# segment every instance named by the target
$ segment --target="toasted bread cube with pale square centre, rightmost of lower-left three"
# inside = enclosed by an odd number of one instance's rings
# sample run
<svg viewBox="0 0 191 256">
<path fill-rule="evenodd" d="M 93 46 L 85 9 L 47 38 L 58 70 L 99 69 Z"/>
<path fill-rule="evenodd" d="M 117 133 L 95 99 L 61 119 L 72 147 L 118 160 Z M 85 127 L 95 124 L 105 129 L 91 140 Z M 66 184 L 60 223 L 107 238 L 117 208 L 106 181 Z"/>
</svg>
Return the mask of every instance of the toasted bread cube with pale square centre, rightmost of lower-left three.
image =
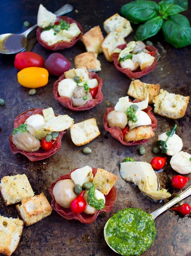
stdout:
<svg viewBox="0 0 191 256">
<path fill-rule="evenodd" d="M 43 192 L 24 199 L 21 204 L 16 205 L 16 209 L 26 226 L 37 223 L 52 213 L 52 207 Z"/>
</svg>

